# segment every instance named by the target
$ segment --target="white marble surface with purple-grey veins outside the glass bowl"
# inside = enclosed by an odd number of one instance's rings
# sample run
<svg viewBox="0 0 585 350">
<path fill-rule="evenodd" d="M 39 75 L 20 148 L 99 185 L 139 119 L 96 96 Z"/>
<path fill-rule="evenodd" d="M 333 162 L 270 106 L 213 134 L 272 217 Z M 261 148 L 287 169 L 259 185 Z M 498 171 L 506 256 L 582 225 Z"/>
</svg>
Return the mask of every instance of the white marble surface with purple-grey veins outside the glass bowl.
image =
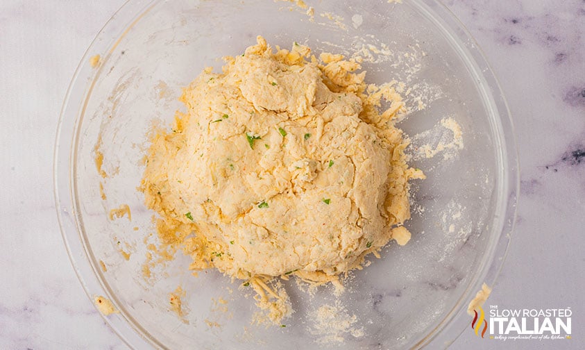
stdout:
<svg viewBox="0 0 585 350">
<path fill-rule="evenodd" d="M 52 184 L 65 90 L 95 33 L 122 3 L 0 3 L 0 349 L 126 349 L 71 268 Z M 465 331 L 451 348 L 583 349 L 585 1 L 447 5 L 484 49 L 516 124 L 518 224 L 488 304 L 573 310 L 571 340 L 493 342 Z"/>
</svg>

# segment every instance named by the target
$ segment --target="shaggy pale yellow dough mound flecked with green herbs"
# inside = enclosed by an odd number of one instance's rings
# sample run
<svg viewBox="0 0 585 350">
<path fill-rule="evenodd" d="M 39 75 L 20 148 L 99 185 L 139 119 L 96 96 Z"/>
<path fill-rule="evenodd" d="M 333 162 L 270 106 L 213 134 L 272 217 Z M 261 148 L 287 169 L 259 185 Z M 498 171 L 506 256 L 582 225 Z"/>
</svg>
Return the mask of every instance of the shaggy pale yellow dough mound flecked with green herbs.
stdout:
<svg viewBox="0 0 585 350">
<path fill-rule="evenodd" d="M 378 256 L 410 216 L 409 178 L 424 175 L 393 126 L 400 96 L 366 85 L 354 60 L 296 43 L 273 53 L 262 37 L 224 59 L 183 90 L 171 132 L 153 133 L 141 188 L 163 242 L 192 269 L 252 284 L 278 322 L 289 310 L 271 277 L 335 282 Z"/>
</svg>

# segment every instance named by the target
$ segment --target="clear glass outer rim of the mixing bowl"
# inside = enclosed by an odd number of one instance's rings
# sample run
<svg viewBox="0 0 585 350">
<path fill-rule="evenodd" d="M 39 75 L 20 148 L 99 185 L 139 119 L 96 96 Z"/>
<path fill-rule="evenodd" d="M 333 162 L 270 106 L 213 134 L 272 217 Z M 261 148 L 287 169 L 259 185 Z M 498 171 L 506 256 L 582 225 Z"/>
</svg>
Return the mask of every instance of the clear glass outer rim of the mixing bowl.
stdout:
<svg viewBox="0 0 585 350">
<path fill-rule="evenodd" d="M 115 49 L 119 39 L 126 35 L 142 15 L 159 2 L 160 0 L 128 0 L 108 19 L 108 22 L 104 24 L 85 51 L 76 68 L 60 112 L 53 153 L 55 205 L 69 260 L 71 260 L 74 271 L 83 285 L 87 297 L 92 302 L 94 296 L 103 295 L 116 305 L 115 296 L 110 295 L 107 283 L 101 281 L 98 277 L 96 266 L 90 258 L 89 247 L 85 246 L 85 242 L 80 235 L 74 206 L 74 164 L 72 162 L 78 136 L 76 131 L 79 116 L 84 112 L 85 103 L 91 94 L 93 86 L 90 83 L 89 88 L 87 88 L 86 78 L 91 78 L 94 74 L 89 61 L 92 53 L 106 52 L 109 55 Z M 427 11 L 428 15 L 444 28 L 445 33 L 451 36 L 452 44 L 456 44 L 456 49 L 461 50 L 460 56 L 466 60 L 466 64 L 469 67 L 473 68 L 473 72 L 477 75 L 475 78 L 481 81 L 480 88 L 484 89 L 482 93 L 488 100 L 493 113 L 497 114 L 497 121 L 500 122 L 500 133 L 496 135 L 498 140 L 495 141 L 500 146 L 498 160 L 501 163 L 501 169 L 498 176 L 502 181 L 499 182 L 499 186 L 496 189 L 499 197 L 496 203 L 495 217 L 496 219 L 499 218 L 500 222 L 492 228 L 492 233 L 497 235 L 495 244 L 489 247 L 490 251 L 485 254 L 485 261 L 481 264 L 483 269 L 476 275 L 475 281 L 469 284 L 468 290 L 464 293 L 464 297 L 461 297 L 457 306 L 415 346 L 417 349 L 421 347 L 434 349 L 435 347 L 448 347 L 468 326 L 470 319 L 466 314 L 467 303 L 473 299 L 475 292 L 481 289 L 482 283 L 490 286 L 495 284 L 507 254 L 511 233 L 514 231 L 520 175 L 514 125 L 509 108 L 500 88 L 500 83 L 487 63 L 482 49 L 480 49 L 480 46 L 464 24 L 439 0 L 411 0 L 411 2 Z M 129 22 L 128 18 L 131 19 Z M 124 22 L 122 23 L 119 19 Z M 112 38 L 117 38 L 117 40 L 112 41 Z M 108 55 L 102 59 L 107 60 Z M 145 331 L 141 330 L 130 315 L 116 314 L 112 316 L 105 317 L 102 315 L 106 324 L 117 333 L 128 347 L 132 349 L 164 348 L 156 340 L 146 338 Z"/>
</svg>

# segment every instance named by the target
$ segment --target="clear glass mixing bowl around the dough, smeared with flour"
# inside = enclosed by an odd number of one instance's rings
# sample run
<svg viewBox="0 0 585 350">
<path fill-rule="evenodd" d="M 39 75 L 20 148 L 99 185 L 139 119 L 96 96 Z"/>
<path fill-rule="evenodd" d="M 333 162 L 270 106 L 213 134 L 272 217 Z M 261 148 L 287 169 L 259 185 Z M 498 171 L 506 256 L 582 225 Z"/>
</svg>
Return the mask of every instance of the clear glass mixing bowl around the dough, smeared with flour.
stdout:
<svg viewBox="0 0 585 350">
<path fill-rule="evenodd" d="M 313 13 L 299 1 L 130 0 L 80 63 L 56 139 L 56 206 L 81 283 L 120 311 L 105 321 L 130 347 L 446 347 L 468 327 L 466 308 L 482 283 L 493 285 L 514 223 L 518 164 L 509 111 L 475 41 L 435 0 L 306 2 Z M 146 134 L 169 126 L 181 87 L 256 35 L 280 47 L 358 54 L 368 82 L 404 82 L 412 113 L 398 126 L 411 136 L 411 165 L 427 174 L 412 188 L 411 242 L 389 243 L 382 258 L 350 274 L 339 298 L 329 287 L 310 295 L 287 283 L 296 311 L 286 327 L 251 324 L 249 289 L 216 271 L 193 276 L 181 253 L 149 277 L 143 269 L 156 242 L 153 213 L 137 191 Z M 425 144 L 452 137 L 441 128 L 448 117 L 464 147 L 421 156 Z M 108 218 L 122 204 L 131 220 Z M 183 318 L 169 310 L 179 285 Z M 335 311 L 328 326 L 313 316 L 323 305 Z"/>
</svg>

